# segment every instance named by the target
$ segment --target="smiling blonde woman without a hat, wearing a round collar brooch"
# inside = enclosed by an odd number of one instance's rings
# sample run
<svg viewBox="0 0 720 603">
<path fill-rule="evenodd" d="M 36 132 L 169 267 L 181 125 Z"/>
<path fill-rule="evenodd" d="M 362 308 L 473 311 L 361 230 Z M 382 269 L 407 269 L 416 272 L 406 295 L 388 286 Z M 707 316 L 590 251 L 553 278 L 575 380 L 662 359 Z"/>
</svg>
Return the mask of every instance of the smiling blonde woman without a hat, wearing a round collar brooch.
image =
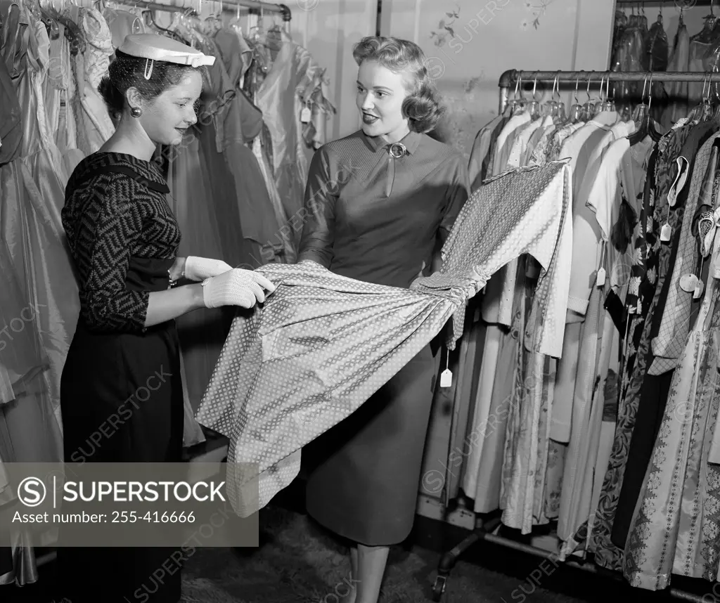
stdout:
<svg viewBox="0 0 720 603">
<path fill-rule="evenodd" d="M 312 158 L 300 260 L 408 287 L 467 199 L 467 168 L 460 153 L 426 134 L 441 106 L 418 45 L 366 37 L 353 54 L 362 128 Z M 433 376 L 428 346 L 303 450 L 307 511 L 351 542 L 348 602 L 377 602 L 389 547 L 413 526 Z"/>
</svg>

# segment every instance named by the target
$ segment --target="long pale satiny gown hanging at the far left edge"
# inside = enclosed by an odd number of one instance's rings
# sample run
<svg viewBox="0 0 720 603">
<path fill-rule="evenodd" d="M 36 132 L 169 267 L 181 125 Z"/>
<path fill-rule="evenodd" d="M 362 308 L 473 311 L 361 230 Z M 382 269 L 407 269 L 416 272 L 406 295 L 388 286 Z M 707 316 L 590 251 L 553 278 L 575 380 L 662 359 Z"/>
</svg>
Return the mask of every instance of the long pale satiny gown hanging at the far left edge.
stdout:
<svg viewBox="0 0 720 603">
<path fill-rule="evenodd" d="M 5 14 L 7 6 L 0 3 Z M 17 4 L 10 12 L 15 10 Z M 12 24 L 14 18 L 4 22 Z M 78 288 L 60 220 L 67 177 L 44 104 L 50 40 L 45 25 L 27 9 L 19 9 L 17 27 L 24 35 L 9 32 L 6 40 L 14 43 L 6 45 L 4 59 L 22 108 L 23 139 L 17 158 L 0 168 L 0 236 L 28 303 L 41 309 L 33 322 L 50 364 L 49 398 L 38 400 L 35 418 L 25 420 L 39 422 L 49 435 L 34 440 L 32 458 L 55 461 L 62 458 L 60 374 L 79 312 Z"/>
</svg>

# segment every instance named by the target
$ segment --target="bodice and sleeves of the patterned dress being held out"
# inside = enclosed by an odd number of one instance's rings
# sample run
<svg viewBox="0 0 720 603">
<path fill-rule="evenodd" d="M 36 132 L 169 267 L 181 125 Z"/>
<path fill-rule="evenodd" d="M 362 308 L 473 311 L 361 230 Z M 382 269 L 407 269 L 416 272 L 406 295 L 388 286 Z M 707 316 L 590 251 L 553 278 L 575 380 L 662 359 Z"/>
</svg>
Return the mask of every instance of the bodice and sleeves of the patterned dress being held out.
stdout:
<svg viewBox="0 0 720 603">
<path fill-rule="evenodd" d="M 452 281 L 462 278 L 485 284 L 510 259 L 529 253 L 542 269 L 529 323 L 533 328 L 525 333 L 526 345 L 559 358 L 570 287 L 570 169 L 567 163 L 552 162 L 509 174 L 489 181 L 473 195 L 476 202 L 482 199 L 482 211 L 468 201 L 472 209 L 460 212 L 442 249 L 441 271 L 415 281 L 413 289 L 428 293 L 445 289 L 449 276 Z M 533 237 L 531 232 L 535 233 Z M 462 335 L 463 320 L 463 312 L 454 317 L 451 349 Z M 536 333 L 537 343 L 531 345 Z"/>
</svg>

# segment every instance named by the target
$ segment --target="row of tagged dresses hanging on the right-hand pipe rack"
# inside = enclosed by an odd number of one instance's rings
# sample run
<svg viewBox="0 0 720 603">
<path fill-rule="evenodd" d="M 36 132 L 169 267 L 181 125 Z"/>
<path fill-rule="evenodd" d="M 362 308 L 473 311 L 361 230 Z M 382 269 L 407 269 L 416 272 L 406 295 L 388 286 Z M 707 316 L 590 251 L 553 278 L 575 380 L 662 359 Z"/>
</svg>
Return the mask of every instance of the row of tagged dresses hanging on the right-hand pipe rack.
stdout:
<svg viewBox="0 0 720 603">
<path fill-rule="evenodd" d="M 566 112 L 518 89 L 475 138 L 478 191 L 567 158 L 572 267 L 561 355 L 524 341 L 532 258 L 469 308 L 454 389 L 467 431 L 447 495 L 523 534 L 557 522 L 560 558 L 654 590 L 672 573 L 715 581 L 720 561 L 720 109 L 705 86 L 665 131 L 644 83 L 627 120 L 604 94 Z"/>
</svg>

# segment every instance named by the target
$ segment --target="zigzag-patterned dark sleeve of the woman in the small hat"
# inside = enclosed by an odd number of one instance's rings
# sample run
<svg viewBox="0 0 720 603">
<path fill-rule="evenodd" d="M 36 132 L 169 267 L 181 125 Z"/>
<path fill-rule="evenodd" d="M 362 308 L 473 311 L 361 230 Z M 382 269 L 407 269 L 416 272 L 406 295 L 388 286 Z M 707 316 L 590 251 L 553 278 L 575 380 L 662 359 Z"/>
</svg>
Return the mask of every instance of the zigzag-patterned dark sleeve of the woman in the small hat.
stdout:
<svg viewBox="0 0 720 603">
<path fill-rule="evenodd" d="M 125 288 L 130 252 L 143 228 L 132 189 L 130 178 L 117 177 L 107 186 L 91 186 L 92 198 L 76 226 L 80 312 L 94 331 L 142 332 L 145 328 L 150 293 Z"/>
</svg>

